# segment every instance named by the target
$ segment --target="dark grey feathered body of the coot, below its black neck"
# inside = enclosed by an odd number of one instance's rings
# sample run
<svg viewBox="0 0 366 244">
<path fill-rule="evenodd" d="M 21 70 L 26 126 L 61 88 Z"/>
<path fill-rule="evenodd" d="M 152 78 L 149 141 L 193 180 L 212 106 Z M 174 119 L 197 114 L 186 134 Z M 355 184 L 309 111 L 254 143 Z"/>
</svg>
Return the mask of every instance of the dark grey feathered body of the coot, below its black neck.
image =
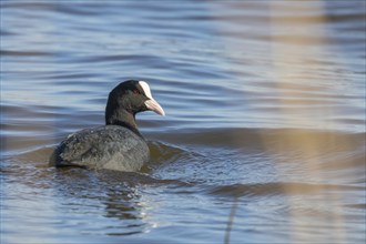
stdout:
<svg viewBox="0 0 366 244">
<path fill-rule="evenodd" d="M 54 150 L 55 166 L 83 166 L 118 171 L 139 171 L 149 161 L 145 141 L 119 125 L 85 129 L 69 135 Z"/>
</svg>

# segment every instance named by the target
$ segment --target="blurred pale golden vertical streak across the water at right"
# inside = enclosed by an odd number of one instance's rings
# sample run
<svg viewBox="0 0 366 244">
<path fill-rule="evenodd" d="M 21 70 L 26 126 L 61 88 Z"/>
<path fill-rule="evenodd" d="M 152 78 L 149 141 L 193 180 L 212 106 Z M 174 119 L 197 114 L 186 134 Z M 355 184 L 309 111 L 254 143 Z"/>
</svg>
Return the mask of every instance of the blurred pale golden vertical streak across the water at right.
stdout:
<svg viewBox="0 0 366 244">
<path fill-rule="evenodd" d="M 314 122 L 319 123 L 318 118 L 329 116 L 334 113 L 331 106 L 324 104 L 318 104 L 321 109 L 317 110 L 308 109 L 313 104 L 309 104 L 312 99 L 302 98 L 297 99 L 298 91 L 302 91 L 306 87 L 306 79 L 302 79 L 304 74 L 316 73 L 316 71 L 324 69 L 319 62 L 312 62 L 312 60 L 324 60 L 322 57 L 323 53 L 319 50 L 321 47 L 325 47 L 327 43 L 324 28 L 326 17 L 325 9 L 321 1 L 302 1 L 298 2 L 288 2 L 284 4 L 282 1 L 271 1 L 271 14 L 272 17 L 277 12 L 287 13 L 285 18 L 271 18 L 271 37 L 272 37 L 272 60 L 274 67 L 274 73 L 276 77 L 275 83 L 277 87 L 278 94 L 278 108 L 282 113 L 283 120 L 291 121 L 295 128 L 302 126 L 313 126 Z M 316 18 L 311 13 L 317 13 Z M 307 14 L 311 14 L 309 17 Z M 311 18 L 312 17 L 312 18 Z M 291 43 L 291 44 L 286 44 Z M 321 79 L 321 78 L 319 78 Z M 314 81 L 308 81 L 313 83 Z M 321 87 L 312 85 L 311 93 L 322 92 L 316 91 Z M 303 95 L 306 93 L 303 93 Z M 296 100 L 296 104 L 294 104 Z M 315 112 L 316 111 L 316 112 Z M 323 129 L 332 129 L 331 122 L 327 124 L 317 124 Z M 302 169 L 298 169 L 297 172 L 302 172 L 304 175 L 303 179 L 309 179 L 308 182 L 314 184 L 314 187 L 321 187 L 319 182 L 326 182 L 324 179 L 324 172 L 319 170 L 322 164 L 322 149 L 324 149 L 324 143 L 327 143 L 326 139 L 321 136 L 313 136 L 307 133 L 296 133 L 293 134 L 291 131 L 287 133 L 282 133 L 281 138 L 276 139 L 278 143 L 286 141 L 287 145 L 292 145 L 292 149 L 297 149 L 301 153 L 297 153 L 296 161 L 303 162 Z M 263 143 L 266 144 L 266 141 L 263 140 Z M 344 142 L 347 143 L 347 142 Z M 267 148 L 271 145 L 266 144 Z M 277 151 L 278 154 L 286 154 L 288 148 L 283 146 L 272 146 L 271 150 Z M 276 160 L 275 160 L 276 161 Z M 276 161 L 277 164 L 282 162 Z M 279 167 L 277 167 L 279 170 Z M 281 173 L 281 172 L 279 172 Z M 281 174 L 279 174 L 281 175 Z M 296 187 L 296 184 L 286 184 L 284 186 L 285 192 L 302 192 L 302 189 Z M 318 189 L 321 192 L 321 189 Z M 308 204 L 324 205 L 328 206 L 328 213 L 331 216 L 327 216 L 328 220 L 324 221 L 333 228 L 334 232 L 329 233 L 329 240 L 333 243 L 344 243 L 345 242 L 345 230 L 339 230 L 339 226 L 343 225 L 343 220 L 339 214 L 339 211 L 332 211 L 332 207 L 340 207 L 343 204 L 342 195 L 332 194 L 332 199 L 328 195 L 323 194 L 315 202 L 309 202 Z M 297 242 L 316 242 L 316 237 L 312 236 L 309 232 L 304 232 L 301 230 L 308 228 L 309 226 L 315 226 L 318 223 L 309 221 L 304 211 L 299 211 L 297 207 L 297 202 L 294 197 L 287 197 L 289 205 L 289 214 L 292 222 L 292 240 L 294 243 Z M 305 200 L 306 201 L 306 200 Z M 331 203 L 332 202 L 332 203 Z M 337 204 L 336 204 L 337 203 Z M 332 214 L 333 213 L 333 214 Z"/>
</svg>

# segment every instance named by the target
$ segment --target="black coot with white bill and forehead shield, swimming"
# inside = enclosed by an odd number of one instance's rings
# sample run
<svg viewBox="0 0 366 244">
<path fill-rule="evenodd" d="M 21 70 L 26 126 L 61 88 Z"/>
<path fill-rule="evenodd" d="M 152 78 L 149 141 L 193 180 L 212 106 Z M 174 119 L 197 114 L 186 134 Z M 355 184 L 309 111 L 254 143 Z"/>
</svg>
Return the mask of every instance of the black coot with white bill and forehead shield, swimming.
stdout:
<svg viewBox="0 0 366 244">
<path fill-rule="evenodd" d="M 105 125 L 70 134 L 53 151 L 50 164 L 116 171 L 139 171 L 150 151 L 135 123 L 135 114 L 154 111 L 165 115 L 144 81 L 128 80 L 109 94 Z"/>
</svg>

